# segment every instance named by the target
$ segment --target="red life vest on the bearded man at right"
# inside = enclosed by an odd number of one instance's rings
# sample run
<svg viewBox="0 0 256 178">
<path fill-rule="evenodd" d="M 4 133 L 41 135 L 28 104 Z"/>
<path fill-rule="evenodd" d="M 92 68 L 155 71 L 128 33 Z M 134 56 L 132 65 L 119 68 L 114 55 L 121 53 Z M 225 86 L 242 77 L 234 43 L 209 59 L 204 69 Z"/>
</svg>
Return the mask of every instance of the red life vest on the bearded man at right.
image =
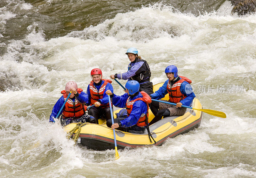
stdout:
<svg viewBox="0 0 256 178">
<path fill-rule="evenodd" d="M 179 77 L 180 77 L 180 80 L 173 83 L 172 87 L 170 86 L 170 81 L 167 84 L 167 91 L 169 93 L 169 101 L 171 103 L 179 103 L 181 100 L 186 98 L 187 96 L 183 95 L 180 92 L 180 85 L 183 81 L 187 81 L 188 83 L 192 82 L 187 77 L 183 77 L 183 76 L 179 76 Z"/>
</svg>

